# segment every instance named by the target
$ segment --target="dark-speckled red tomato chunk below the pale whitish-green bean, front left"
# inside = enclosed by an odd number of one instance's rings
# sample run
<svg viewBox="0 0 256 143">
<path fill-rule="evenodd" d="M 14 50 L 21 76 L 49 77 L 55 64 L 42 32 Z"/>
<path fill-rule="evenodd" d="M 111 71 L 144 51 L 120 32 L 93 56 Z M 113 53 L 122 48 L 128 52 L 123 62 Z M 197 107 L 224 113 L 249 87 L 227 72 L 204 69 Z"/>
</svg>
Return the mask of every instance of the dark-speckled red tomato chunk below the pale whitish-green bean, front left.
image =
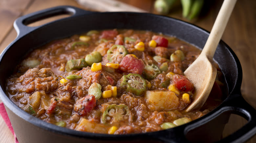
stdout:
<svg viewBox="0 0 256 143">
<path fill-rule="evenodd" d="M 96 99 L 94 95 L 87 95 L 76 101 L 74 111 L 81 116 L 87 115 L 96 106 Z"/>
</svg>

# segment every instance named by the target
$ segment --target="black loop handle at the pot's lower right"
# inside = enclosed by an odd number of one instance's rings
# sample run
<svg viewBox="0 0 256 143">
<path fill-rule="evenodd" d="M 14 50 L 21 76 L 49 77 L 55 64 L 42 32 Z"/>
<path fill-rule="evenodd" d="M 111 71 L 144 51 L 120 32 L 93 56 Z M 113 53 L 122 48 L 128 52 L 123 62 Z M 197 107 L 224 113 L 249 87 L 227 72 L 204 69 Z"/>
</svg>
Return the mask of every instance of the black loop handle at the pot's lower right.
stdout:
<svg viewBox="0 0 256 143">
<path fill-rule="evenodd" d="M 229 108 L 230 113 L 240 115 L 248 122 L 242 128 L 218 142 L 240 143 L 255 135 L 256 110 L 245 101 L 241 94 L 230 95 L 222 108 Z"/>
</svg>

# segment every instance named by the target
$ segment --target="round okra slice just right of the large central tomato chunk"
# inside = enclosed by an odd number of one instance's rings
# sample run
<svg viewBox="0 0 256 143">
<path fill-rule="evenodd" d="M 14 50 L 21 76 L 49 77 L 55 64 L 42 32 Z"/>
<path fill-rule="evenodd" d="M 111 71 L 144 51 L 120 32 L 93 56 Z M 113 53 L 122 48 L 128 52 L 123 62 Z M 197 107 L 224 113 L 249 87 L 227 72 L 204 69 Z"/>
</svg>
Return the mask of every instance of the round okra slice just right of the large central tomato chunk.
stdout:
<svg viewBox="0 0 256 143">
<path fill-rule="evenodd" d="M 159 73 L 160 73 L 159 68 L 154 64 L 146 65 L 143 70 L 143 75 L 144 75 L 145 79 L 155 78 L 157 76 L 157 74 L 159 74 Z"/>
</svg>

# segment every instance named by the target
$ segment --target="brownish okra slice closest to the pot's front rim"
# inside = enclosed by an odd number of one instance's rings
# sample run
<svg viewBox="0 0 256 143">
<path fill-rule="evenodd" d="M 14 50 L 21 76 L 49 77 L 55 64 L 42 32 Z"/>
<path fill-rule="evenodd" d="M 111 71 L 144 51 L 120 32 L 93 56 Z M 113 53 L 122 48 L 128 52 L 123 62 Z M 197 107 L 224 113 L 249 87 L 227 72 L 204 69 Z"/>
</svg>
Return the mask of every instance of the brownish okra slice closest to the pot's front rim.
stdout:
<svg viewBox="0 0 256 143">
<path fill-rule="evenodd" d="M 125 104 L 111 104 L 108 105 L 102 114 L 101 121 L 104 124 L 115 124 L 120 121 L 130 121 L 131 113 Z"/>
</svg>

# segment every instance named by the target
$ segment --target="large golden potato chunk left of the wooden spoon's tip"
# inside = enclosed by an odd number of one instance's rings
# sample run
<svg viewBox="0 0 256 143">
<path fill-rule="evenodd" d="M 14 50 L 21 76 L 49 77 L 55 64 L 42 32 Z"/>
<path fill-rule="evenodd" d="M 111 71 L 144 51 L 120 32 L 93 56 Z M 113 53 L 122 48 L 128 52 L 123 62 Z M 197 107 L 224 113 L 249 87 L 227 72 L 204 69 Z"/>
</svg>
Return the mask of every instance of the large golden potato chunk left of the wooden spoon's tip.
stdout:
<svg viewBox="0 0 256 143">
<path fill-rule="evenodd" d="M 179 98 L 172 91 L 146 91 L 146 103 L 150 110 L 171 110 L 179 105 Z"/>
</svg>

